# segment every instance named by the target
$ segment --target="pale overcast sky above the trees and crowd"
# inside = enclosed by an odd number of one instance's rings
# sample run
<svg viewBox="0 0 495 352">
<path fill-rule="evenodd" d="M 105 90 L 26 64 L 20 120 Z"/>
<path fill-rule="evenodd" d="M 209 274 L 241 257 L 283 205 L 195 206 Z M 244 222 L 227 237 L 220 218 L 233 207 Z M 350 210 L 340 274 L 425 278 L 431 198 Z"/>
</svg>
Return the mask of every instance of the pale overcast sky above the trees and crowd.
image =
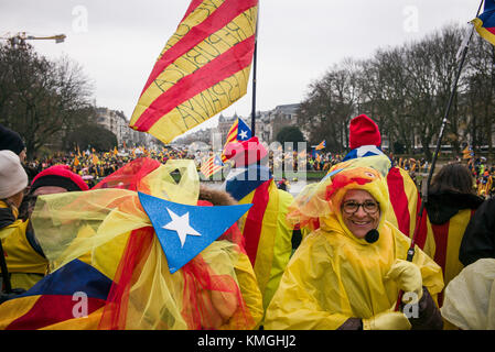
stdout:
<svg viewBox="0 0 495 352">
<path fill-rule="evenodd" d="M 64 43 L 31 41 L 49 57 L 84 67 L 99 107 L 130 119 L 153 64 L 190 0 L 0 0 L 0 36 L 21 31 L 64 33 Z M 260 0 L 257 110 L 300 102 L 311 81 L 345 57 L 424 37 L 451 23 L 465 25 L 478 0 Z M 252 70 L 251 70 L 252 72 Z M 248 94 L 223 111 L 247 117 Z M 217 117 L 211 120 L 216 124 Z"/>
</svg>

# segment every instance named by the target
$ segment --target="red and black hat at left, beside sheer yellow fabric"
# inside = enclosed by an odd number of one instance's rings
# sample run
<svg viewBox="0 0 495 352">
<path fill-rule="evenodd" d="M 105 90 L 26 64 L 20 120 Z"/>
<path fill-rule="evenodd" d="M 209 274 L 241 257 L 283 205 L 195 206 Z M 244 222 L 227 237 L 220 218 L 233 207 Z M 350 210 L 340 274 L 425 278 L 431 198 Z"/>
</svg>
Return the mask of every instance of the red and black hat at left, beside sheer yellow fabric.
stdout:
<svg viewBox="0 0 495 352">
<path fill-rule="evenodd" d="M 31 183 L 31 193 L 43 186 L 57 186 L 67 191 L 89 189 L 84 179 L 73 173 L 67 165 L 54 165 L 37 174 Z"/>
</svg>

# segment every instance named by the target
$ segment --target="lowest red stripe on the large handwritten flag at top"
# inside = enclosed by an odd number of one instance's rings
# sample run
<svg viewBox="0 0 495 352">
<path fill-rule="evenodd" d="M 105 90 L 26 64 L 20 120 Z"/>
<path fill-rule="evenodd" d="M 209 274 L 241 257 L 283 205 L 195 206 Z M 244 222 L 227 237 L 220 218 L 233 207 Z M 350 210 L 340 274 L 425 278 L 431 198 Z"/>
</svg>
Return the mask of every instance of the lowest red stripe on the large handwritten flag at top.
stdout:
<svg viewBox="0 0 495 352">
<path fill-rule="evenodd" d="M 138 131 L 148 131 L 160 118 L 184 101 L 245 69 L 251 63 L 254 50 L 255 36 L 251 35 L 193 74 L 182 78 L 148 107 L 136 121 L 134 128 Z"/>
</svg>

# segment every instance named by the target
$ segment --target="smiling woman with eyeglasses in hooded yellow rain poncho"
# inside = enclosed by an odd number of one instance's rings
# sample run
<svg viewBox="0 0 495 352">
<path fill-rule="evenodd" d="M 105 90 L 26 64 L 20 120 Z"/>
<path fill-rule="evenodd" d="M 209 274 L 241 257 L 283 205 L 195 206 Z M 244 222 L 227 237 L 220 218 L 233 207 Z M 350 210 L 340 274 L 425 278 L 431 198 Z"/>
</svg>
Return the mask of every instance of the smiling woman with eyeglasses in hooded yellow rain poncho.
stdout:
<svg viewBox="0 0 495 352">
<path fill-rule="evenodd" d="M 303 190 L 289 217 L 320 228 L 293 254 L 265 329 L 441 329 L 441 268 L 384 215 L 390 200 L 377 170 L 351 166 Z M 399 294 L 401 301 L 396 308 Z"/>
</svg>

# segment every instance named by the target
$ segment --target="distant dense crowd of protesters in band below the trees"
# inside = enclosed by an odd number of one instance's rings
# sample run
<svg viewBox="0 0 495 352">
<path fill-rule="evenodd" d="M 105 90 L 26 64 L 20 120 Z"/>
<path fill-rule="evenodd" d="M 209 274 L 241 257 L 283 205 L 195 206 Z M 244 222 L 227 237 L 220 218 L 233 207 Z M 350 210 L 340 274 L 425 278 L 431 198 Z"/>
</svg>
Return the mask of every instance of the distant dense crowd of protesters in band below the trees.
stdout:
<svg viewBox="0 0 495 352">
<path fill-rule="evenodd" d="M 194 160 L 197 169 L 201 168 L 202 163 L 211 153 L 198 152 L 191 153 L 187 147 L 163 147 L 161 151 L 147 150 L 146 147 L 133 147 L 122 151 L 96 152 L 95 150 L 86 150 L 83 152 L 73 151 L 69 153 L 57 152 L 54 155 L 45 157 L 35 157 L 32 161 L 25 162 L 26 172 L 30 180 L 43 169 L 57 165 L 69 165 L 72 170 L 80 175 L 89 187 L 96 185 L 98 179 L 110 175 L 122 165 L 138 158 L 150 157 L 165 163 L 169 158 L 173 160 Z M 344 155 L 336 153 L 269 153 L 270 170 L 284 169 L 288 165 L 287 161 L 292 165 L 293 170 L 306 172 L 327 172 L 332 166 L 342 162 Z M 431 163 L 426 158 L 412 157 L 397 157 L 392 154 L 388 155 L 392 165 L 398 166 L 409 173 L 411 179 L 420 187 L 422 177 L 428 174 Z M 495 194 L 495 185 L 493 178 L 495 177 L 495 165 L 489 165 L 485 157 L 472 157 L 462 161 L 456 157 L 451 162 L 462 162 L 469 167 L 473 175 L 474 187 L 478 196 L 488 198 Z M 303 163 L 303 165 L 300 165 Z M 302 166 L 302 168 L 301 168 Z M 299 167 L 299 168 L 298 168 Z"/>
</svg>

